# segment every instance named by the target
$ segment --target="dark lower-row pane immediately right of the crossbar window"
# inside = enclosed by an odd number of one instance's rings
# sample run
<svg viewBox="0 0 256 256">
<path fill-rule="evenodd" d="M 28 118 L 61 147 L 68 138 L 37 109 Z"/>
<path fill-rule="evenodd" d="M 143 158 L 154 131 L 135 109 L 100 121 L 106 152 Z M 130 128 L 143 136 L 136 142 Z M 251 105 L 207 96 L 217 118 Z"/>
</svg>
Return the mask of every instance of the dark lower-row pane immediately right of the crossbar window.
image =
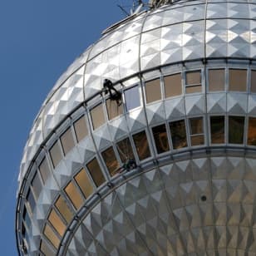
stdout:
<svg viewBox="0 0 256 256">
<path fill-rule="evenodd" d="M 210 117 L 210 138 L 212 144 L 224 143 L 224 116 Z"/>
</svg>

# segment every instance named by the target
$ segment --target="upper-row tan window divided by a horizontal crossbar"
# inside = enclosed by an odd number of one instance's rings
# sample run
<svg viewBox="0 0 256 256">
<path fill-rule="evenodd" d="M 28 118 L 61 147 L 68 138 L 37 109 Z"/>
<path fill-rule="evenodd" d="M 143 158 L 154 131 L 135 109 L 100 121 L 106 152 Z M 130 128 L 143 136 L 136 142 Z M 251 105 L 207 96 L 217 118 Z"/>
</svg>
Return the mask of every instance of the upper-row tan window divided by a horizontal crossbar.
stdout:
<svg viewBox="0 0 256 256">
<path fill-rule="evenodd" d="M 202 91 L 201 71 L 189 71 L 186 75 L 186 93 L 194 93 Z"/>
</svg>

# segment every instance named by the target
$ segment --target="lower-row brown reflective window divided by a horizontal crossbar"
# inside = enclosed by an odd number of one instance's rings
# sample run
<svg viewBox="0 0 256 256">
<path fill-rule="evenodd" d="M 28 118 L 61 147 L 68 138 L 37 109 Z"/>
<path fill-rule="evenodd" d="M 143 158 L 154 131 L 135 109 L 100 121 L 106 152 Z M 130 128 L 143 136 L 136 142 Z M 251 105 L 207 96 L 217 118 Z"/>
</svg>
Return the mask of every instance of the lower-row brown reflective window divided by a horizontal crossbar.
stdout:
<svg viewBox="0 0 256 256">
<path fill-rule="evenodd" d="M 204 144 L 203 117 L 195 117 L 190 119 L 190 140 L 191 145 Z"/>
</svg>

